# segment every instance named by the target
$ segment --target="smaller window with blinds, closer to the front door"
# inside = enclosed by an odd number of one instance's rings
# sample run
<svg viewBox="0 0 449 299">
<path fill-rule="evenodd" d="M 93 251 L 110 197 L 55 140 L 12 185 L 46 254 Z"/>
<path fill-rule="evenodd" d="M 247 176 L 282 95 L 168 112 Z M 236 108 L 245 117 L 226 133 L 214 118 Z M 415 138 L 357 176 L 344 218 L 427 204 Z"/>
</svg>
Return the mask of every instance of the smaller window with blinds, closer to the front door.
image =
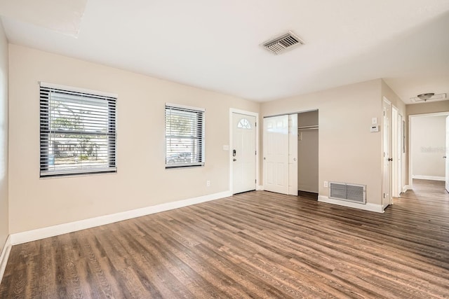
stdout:
<svg viewBox="0 0 449 299">
<path fill-rule="evenodd" d="M 166 104 L 166 168 L 204 165 L 204 109 Z"/>
</svg>

